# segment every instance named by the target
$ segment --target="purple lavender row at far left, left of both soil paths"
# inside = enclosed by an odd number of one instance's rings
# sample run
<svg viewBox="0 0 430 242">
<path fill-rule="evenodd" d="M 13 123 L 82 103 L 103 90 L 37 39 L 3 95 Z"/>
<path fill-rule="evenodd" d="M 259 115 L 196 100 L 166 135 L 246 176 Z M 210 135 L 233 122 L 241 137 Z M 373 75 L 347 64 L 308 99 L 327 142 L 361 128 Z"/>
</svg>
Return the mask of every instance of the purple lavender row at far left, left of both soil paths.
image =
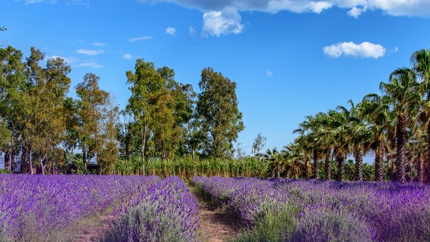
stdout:
<svg viewBox="0 0 430 242">
<path fill-rule="evenodd" d="M 159 177 L 0 175 L 0 241 L 44 241 Z"/>
</svg>

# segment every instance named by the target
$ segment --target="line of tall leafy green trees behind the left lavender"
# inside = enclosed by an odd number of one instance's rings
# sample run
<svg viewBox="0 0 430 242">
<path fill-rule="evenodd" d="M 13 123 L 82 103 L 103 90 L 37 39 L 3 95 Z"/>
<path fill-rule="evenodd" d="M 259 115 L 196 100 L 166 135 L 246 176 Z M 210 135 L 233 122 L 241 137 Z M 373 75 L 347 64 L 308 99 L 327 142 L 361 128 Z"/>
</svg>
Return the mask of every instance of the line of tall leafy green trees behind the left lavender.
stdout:
<svg viewBox="0 0 430 242">
<path fill-rule="evenodd" d="M 197 94 L 174 78 L 169 67 L 137 59 L 126 72 L 131 97 L 124 110 L 100 89 L 100 78 L 86 74 L 67 96 L 71 68 L 31 48 L 0 48 L 0 153 L 5 170 L 14 173 L 65 173 L 73 164 L 87 172 L 109 174 L 120 160 L 222 157 L 234 154 L 233 143 L 245 126 L 238 110 L 236 83 L 203 69 Z M 138 157 L 138 160 L 136 161 Z"/>
</svg>

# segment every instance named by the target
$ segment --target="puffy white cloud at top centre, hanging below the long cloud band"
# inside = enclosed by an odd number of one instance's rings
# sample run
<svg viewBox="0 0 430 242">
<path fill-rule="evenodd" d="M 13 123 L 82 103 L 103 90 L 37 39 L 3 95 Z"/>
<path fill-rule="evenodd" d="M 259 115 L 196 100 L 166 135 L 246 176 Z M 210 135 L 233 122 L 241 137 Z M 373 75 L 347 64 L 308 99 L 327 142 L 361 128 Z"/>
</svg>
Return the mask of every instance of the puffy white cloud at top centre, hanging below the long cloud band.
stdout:
<svg viewBox="0 0 430 242">
<path fill-rule="evenodd" d="M 220 12 L 205 12 L 203 14 L 203 35 L 240 34 L 244 30 L 242 23 L 240 23 L 241 20 L 239 13 L 233 8 L 227 8 Z"/>
</svg>

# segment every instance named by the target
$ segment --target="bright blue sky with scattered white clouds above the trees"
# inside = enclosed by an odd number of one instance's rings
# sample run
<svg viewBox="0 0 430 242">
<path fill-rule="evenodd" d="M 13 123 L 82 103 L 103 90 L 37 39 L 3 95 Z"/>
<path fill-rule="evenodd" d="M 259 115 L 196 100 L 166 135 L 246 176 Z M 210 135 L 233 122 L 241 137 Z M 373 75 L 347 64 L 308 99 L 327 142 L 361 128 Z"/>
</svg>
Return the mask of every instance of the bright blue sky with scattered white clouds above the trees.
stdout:
<svg viewBox="0 0 430 242">
<path fill-rule="evenodd" d="M 428 0 L 2 0 L 0 9 L 2 45 L 65 58 L 72 87 L 97 74 L 120 107 L 136 58 L 196 91 L 214 67 L 238 83 L 248 154 L 258 133 L 282 148 L 305 115 L 378 92 L 430 48 Z"/>
</svg>

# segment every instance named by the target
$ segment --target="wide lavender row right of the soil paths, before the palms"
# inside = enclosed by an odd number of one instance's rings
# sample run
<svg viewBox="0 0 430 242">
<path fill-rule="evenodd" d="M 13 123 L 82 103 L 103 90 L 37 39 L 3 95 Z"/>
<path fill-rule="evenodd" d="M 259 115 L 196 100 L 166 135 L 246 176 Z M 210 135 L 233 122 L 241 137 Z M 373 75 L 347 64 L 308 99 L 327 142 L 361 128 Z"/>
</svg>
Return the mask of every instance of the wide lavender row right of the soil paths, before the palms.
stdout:
<svg viewBox="0 0 430 242">
<path fill-rule="evenodd" d="M 282 241 L 430 241 L 429 186 L 223 177 L 192 182 L 245 224 L 289 217 L 277 228 Z"/>
</svg>

